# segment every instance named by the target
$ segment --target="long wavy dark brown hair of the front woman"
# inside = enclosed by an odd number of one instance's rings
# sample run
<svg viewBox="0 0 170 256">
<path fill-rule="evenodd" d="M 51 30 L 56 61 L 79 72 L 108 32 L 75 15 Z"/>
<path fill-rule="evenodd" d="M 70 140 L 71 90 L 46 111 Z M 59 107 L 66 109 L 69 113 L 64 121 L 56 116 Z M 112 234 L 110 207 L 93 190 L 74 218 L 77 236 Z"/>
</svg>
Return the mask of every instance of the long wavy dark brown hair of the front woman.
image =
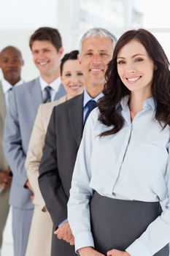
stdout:
<svg viewBox="0 0 170 256">
<path fill-rule="evenodd" d="M 98 102 L 100 115 L 98 120 L 107 127 L 113 128 L 102 132 L 101 136 L 112 135 L 119 132 L 123 127 L 124 119 L 117 113 L 116 105 L 127 94 L 131 94 L 117 73 L 117 54 L 132 39 L 138 40 L 147 50 L 147 54 L 155 64 L 151 92 L 156 101 L 155 119 L 163 122 L 163 128 L 170 125 L 170 71 L 169 60 L 158 40 L 147 30 L 138 29 L 125 32 L 115 45 L 112 60 L 108 64 L 106 72 L 106 84 L 104 86 L 104 97 Z"/>
</svg>

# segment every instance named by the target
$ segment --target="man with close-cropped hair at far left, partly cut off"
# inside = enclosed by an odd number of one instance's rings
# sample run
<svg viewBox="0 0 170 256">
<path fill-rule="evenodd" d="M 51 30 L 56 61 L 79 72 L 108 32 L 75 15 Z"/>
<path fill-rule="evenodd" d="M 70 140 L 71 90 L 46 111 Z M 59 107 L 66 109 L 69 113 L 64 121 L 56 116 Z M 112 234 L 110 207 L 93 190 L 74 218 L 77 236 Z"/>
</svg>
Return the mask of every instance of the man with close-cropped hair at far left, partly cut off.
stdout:
<svg viewBox="0 0 170 256">
<path fill-rule="evenodd" d="M 9 105 L 9 93 L 13 86 L 23 83 L 20 73 L 23 66 L 23 57 L 18 48 L 7 46 L 1 50 L 0 67 L 3 79 L 0 82 L 0 251 L 2 234 L 9 211 L 9 188 L 11 187 L 12 173 L 4 157 L 2 137 L 4 133 L 4 118 Z M 1 252 L 0 252 L 1 254 Z"/>
</svg>

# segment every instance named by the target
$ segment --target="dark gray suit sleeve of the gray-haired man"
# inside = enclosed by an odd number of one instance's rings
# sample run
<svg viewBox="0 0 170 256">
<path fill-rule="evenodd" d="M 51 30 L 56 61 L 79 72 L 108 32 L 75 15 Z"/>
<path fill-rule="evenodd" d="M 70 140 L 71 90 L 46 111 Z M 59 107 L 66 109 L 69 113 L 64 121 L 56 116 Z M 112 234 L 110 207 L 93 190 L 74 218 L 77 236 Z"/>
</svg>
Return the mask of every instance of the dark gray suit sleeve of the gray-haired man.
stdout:
<svg viewBox="0 0 170 256">
<path fill-rule="evenodd" d="M 61 178 L 58 173 L 58 148 L 56 146 L 55 129 L 55 112 L 53 109 L 47 128 L 42 160 L 39 165 L 39 188 L 53 224 L 55 227 L 58 227 L 63 222 L 63 219 L 67 218 L 67 202 L 69 198 L 63 191 Z"/>
</svg>

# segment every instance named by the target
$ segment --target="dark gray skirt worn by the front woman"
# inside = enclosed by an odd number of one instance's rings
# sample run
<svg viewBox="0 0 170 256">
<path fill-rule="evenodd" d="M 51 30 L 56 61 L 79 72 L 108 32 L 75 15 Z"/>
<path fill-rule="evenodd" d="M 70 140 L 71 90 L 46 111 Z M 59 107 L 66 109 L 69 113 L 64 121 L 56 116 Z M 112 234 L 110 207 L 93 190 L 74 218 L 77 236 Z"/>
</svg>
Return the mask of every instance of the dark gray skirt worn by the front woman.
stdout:
<svg viewBox="0 0 170 256">
<path fill-rule="evenodd" d="M 90 200 L 90 217 L 95 249 L 104 255 L 110 249 L 124 251 L 161 212 L 158 202 L 117 200 L 94 192 Z M 169 245 L 155 256 L 169 256 Z"/>
</svg>

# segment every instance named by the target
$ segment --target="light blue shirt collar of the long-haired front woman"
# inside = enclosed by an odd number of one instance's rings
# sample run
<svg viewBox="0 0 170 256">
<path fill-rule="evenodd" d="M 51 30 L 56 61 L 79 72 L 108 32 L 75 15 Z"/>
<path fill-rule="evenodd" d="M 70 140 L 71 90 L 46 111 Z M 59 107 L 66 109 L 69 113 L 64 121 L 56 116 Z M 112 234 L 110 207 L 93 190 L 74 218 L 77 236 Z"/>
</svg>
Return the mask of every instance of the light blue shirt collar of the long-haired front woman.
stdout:
<svg viewBox="0 0 170 256">
<path fill-rule="evenodd" d="M 127 108 L 127 105 L 128 105 L 128 99 L 129 99 L 129 95 L 126 95 L 125 97 L 123 97 L 123 99 L 120 100 L 120 103 L 117 104 L 116 109 L 121 106 L 123 110 L 125 110 L 125 108 Z M 152 108 L 152 110 L 155 111 L 155 105 L 156 105 L 155 99 L 153 97 L 150 97 L 149 99 L 144 101 L 143 109 L 147 110 L 149 108 Z"/>
</svg>

